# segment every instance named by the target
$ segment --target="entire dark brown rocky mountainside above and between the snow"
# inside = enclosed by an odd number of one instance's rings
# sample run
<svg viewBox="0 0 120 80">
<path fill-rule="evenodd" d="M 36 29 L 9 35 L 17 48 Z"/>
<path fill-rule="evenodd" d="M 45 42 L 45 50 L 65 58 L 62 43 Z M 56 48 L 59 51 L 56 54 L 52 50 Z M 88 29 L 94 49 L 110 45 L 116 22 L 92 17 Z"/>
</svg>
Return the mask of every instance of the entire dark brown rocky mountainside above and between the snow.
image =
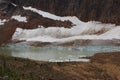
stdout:
<svg viewBox="0 0 120 80">
<path fill-rule="evenodd" d="M 31 6 L 59 16 L 76 16 L 82 21 L 95 20 L 120 24 L 120 0 L 0 0 L 0 19 L 8 20 L 5 25 L 2 25 L 4 30 L 0 29 L 0 34 L 4 34 L 3 31 L 6 31 L 5 29 L 8 29 L 8 27 L 13 28 L 10 33 L 5 33 L 4 38 L 0 35 L 0 43 L 9 40 L 16 27 L 31 29 L 40 25 L 68 28 L 72 25 L 70 21 L 52 20 L 33 11 L 24 10 L 23 6 Z M 13 20 L 11 17 L 14 15 L 27 17 L 27 23 L 11 21 Z M 6 25 L 8 23 L 11 25 Z"/>
</svg>

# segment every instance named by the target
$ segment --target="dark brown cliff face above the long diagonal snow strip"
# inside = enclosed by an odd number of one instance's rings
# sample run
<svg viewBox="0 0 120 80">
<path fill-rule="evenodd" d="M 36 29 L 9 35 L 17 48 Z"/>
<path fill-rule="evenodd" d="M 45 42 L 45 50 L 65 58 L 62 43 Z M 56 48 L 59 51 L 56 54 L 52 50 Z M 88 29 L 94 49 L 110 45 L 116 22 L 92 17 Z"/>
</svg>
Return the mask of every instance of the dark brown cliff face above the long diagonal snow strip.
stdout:
<svg viewBox="0 0 120 80">
<path fill-rule="evenodd" d="M 6 0 L 19 6 L 32 6 L 59 16 L 120 24 L 120 0 Z"/>
</svg>

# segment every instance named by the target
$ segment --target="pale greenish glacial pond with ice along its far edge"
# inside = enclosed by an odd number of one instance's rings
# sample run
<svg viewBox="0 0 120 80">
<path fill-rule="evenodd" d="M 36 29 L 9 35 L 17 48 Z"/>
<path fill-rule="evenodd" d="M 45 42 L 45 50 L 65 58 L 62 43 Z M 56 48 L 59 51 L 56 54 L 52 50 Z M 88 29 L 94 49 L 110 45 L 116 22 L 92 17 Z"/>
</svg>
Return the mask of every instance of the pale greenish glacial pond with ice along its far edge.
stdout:
<svg viewBox="0 0 120 80">
<path fill-rule="evenodd" d="M 38 61 L 49 62 L 69 62 L 84 61 L 89 59 L 83 57 L 92 56 L 98 52 L 115 52 L 120 51 L 120 46 L 44 46 L 31 47 L 28 45 L 5 45 L 0 48 L 0 54 L 6 56 L 28 58 Z"/>
</svg>

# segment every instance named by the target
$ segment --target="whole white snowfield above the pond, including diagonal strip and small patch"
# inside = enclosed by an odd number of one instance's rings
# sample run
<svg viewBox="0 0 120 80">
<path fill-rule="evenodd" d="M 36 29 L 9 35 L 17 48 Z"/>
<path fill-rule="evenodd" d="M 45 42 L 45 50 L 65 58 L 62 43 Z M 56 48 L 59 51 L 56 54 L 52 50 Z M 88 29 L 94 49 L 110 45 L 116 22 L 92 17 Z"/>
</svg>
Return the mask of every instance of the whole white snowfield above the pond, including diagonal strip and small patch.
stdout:
<svg viewBox="0 0 120 80">
<path fill-rule="evenodd" d="M 40 42 L 67 42 L 76 39 L 120 39 L 120 26 L 115 24 L 104 24 L 96 21 L 82 22 L 77 17 L 67 16 L 60 17 L 54 14 L 37 10 L 32 7 L 23 7 L 25 10 L 33 12 L 54 20 L 71 21 L 74 26 L 72 28 L 64 27 L 39 27 L 32 30 L 23 30 L 17 28 L 13 35 L 13 40 L 26 40 L 26 41 L 40 41 Z M 18 19 L 20 16 L 14 16 L 14 19 L 26 22 L 26 18 Z"/>
</svg>

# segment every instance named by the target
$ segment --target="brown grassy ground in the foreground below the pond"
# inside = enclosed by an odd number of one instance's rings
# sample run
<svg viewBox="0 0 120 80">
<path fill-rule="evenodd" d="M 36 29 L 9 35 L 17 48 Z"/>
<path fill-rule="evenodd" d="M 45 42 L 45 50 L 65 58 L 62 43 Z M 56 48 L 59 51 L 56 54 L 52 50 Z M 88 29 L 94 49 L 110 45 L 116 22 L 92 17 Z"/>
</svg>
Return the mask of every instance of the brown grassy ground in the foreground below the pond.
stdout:
<svg viewBox="0 0 120 80">
<path fill-rule="evenodd" d="M 0 55 L 0 77 L 9 80 L 120 80 L 120 52 L 97 53 L 90 62 L 41 62 Z"/>
</svg>

